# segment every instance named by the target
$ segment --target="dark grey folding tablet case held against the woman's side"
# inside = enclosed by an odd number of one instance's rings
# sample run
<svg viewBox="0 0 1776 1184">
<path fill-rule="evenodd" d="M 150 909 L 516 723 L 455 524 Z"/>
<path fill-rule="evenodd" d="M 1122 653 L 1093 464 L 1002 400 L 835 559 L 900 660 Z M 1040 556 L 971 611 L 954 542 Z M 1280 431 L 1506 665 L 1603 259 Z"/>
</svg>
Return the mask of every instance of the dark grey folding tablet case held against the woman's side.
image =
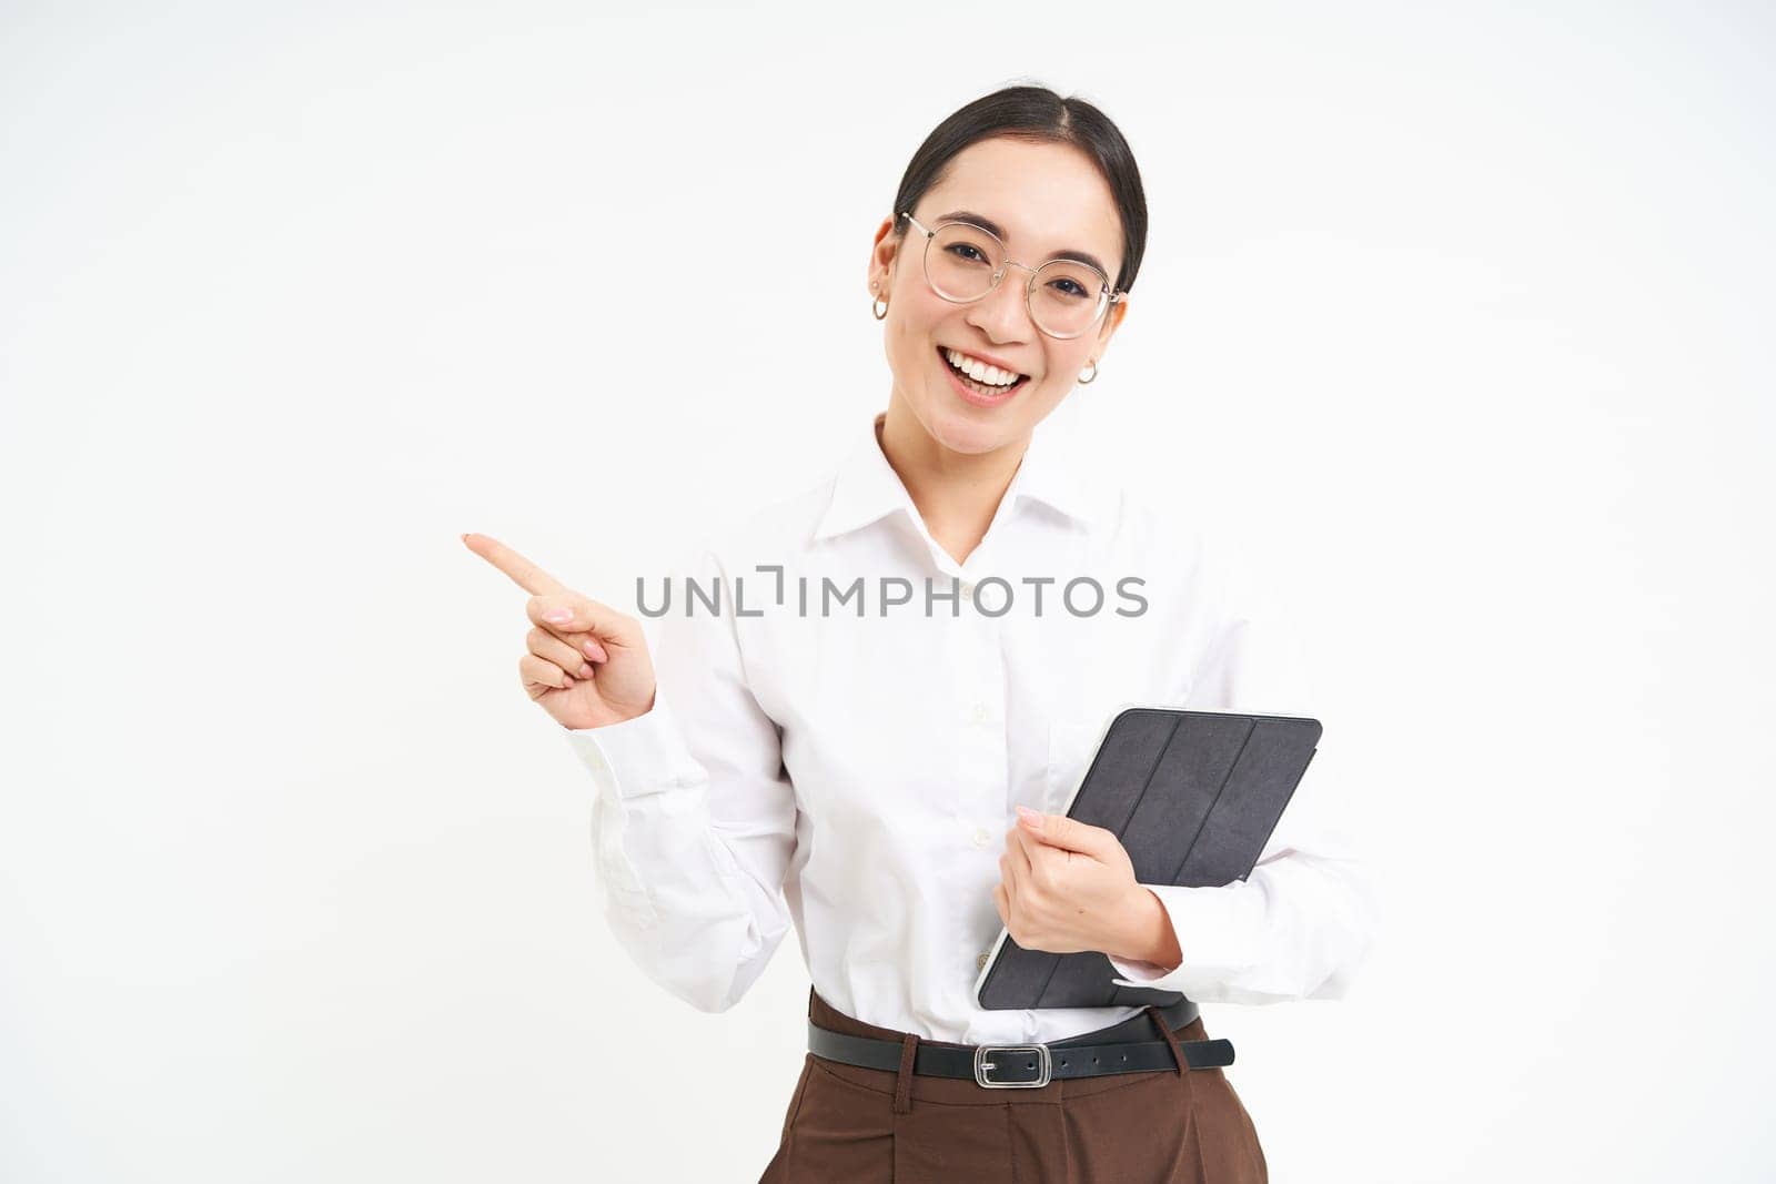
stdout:
<svg viewBox="0 0 1776 1184">
<path fill-rule="evenodd" d="M 1124 708 L 1110 721 L 1067 817 L 1112 831 L 1142 884 L 1243 880 L 1307 772 L 1320 731 L 1320 721 L 1293 715 Z M 1005 1010 L 1165 1006 L 1183 998 L 1122 987 L 1115 978 L 1103 953 L 1025 950 L 1000 930 L 979 999 Z"/>
</svg>

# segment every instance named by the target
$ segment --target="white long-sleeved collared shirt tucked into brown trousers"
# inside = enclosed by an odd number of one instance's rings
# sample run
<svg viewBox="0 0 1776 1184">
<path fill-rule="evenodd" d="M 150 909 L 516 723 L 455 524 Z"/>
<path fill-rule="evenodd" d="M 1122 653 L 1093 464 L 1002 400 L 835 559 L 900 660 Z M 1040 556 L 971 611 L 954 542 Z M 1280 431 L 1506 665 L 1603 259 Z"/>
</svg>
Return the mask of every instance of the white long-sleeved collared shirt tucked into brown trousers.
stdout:
<svg viewBox="0 0 1776 1184">
<path fill-rule="evenodd" d="M 888 465 L 879 421 L 815 488 L 643 580 L 654 710 L 567 733 L 595 785 L 606 918 L 654 982 L 707 1012 L 794 927 L 815 991 L 870 1024 L 961 1044 L 1114 1024 L 1137 1008 L 973 998 L 1016 806 L 1062 813 L 1128 703 L 1323 717 L 1259 589 L 1201 524 L 1089 472 L 1069 403 L 1037 424 L 961 564 Z M 1321 749 L 1339 735 L 1323 722 Z M 1115 982 L 1199 1003 L 1346 992 L 1373 896 L 1323 763 L 1249 879 L 1149 886 L 1183 964 L 1112 959 Z"/>
</svg>

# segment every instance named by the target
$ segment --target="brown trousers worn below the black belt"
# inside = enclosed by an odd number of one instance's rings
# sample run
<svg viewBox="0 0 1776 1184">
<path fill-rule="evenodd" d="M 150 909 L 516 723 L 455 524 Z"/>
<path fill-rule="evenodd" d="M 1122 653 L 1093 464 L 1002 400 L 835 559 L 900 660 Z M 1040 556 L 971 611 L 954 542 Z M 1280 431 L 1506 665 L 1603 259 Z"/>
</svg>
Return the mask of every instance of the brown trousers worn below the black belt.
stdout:
<svg viewBox="0 0 1776 1184">
<path fill-rule="evenodd" d="M 1266 1184 L 1265 1150 L 1222 1069 L 1106 1074 L 989 1090 L 915 1074 L 920 1037 L 865 1024 L 808 991 L 808 1019 L 902 1046 L 900 1072 L 808 1053 L 758 1184 Z M 1149 1008 L 1130 1040 L 1206 1040 L 1197 1017 L 1167 1031 Z M 961 1046 L 952 1046 L 961 1047 Z M 1176 1054 L 1176 1049 L 1174 1049 Z"/>
</svg>

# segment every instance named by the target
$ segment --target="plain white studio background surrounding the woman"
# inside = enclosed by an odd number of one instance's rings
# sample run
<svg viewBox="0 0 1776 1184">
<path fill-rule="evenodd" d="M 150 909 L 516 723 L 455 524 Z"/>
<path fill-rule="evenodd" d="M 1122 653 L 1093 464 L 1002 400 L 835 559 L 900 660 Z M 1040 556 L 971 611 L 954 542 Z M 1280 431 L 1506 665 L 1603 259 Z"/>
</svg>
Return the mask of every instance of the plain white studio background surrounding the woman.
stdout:
<svg viewBox="0 0 1776 1184">
<path fill-rule="evenodd" d="M 817 481 L 1034 80 L 1153 217 L 1082 410 L 1273 572 L 1384 882 L 1206 1014 L 1272 1179 L 1769 1179 L 1776 23 L 1502 7 L 0 9 L 0 1177 L 757 1179 L 796 943 L 625 959 L 458 534 L 632 605 Z"/>
</svg>

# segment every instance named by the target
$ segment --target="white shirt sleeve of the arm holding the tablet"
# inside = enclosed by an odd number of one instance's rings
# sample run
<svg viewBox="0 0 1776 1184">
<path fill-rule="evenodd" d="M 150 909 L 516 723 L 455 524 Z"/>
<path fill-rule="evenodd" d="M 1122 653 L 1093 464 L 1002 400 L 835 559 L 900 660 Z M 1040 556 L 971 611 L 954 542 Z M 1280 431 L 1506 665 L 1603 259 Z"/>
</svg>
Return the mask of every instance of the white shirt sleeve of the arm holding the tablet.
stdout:
<svg viewBox="0 0 1776 1184">
<path fill-rule="evenodd" d="M 1368 957 L 1378 916 L 1369 864 L 1339 792 L 1339 731 L 1314 710 L 1298 639 L 1275 598 L 1227 554 L 1217 561 L 1218 627 L 1195 669 L 1188 706 L 1309 715 L 1327 731 L 1247 879 L 1144 886 L 1170 918 L 1179 966 L 1112 957 L 1114 982 L 1179 991 L 1199 1003 L 1339 999 Z"/>
</svg>

